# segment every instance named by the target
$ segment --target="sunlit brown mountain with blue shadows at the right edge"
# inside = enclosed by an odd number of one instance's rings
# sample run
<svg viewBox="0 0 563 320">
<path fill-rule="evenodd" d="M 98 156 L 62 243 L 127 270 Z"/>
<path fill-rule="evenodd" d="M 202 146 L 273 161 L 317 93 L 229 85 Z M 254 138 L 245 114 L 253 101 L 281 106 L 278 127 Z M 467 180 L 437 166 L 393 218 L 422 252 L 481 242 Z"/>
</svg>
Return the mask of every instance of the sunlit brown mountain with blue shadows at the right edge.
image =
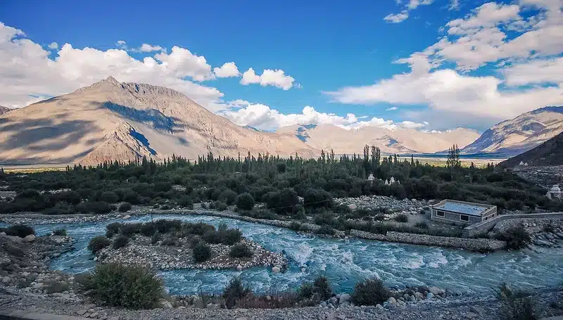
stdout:
<svg viewBox="0 0 563 320">
<path fill-rule="evenodd" d="M 563 106 L 545 107 L 495 124 L 462 153 L 517 155 L 563 132 Z"/>
</svg>

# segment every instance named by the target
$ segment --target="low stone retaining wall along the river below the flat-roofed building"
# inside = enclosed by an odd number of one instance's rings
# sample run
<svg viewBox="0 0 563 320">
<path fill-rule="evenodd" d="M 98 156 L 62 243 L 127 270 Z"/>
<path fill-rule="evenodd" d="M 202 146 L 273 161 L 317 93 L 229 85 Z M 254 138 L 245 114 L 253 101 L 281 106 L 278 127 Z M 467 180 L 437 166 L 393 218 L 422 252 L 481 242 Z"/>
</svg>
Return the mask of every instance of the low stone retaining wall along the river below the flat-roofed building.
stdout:
<svg viewBox="0 0 563 320">
<path fill-rule="evenodd" d="M 429 236 L 427 234 L 403 233 L 388 231 L 387 234 L 369 233 L 350 230 L 350 236 L 369 240 L 410 243 L 413 245 L 435 245 L 438 247 L 459 248 L 470 251 L 495 251 L 506 247 L 505 241 L 491 239 L 468 239 L 444 236 Z"/>
</svg>

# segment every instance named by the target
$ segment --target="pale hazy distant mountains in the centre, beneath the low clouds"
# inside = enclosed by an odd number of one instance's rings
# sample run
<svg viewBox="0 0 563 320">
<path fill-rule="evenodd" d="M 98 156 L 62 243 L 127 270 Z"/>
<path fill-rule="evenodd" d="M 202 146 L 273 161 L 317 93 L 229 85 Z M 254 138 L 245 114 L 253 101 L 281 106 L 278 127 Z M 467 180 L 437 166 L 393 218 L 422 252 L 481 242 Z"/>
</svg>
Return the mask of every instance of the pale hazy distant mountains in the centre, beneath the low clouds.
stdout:
<svg viewBox="0 0 563 320">
<path fill-rule="evenodd" d="M 479 137 L 478 132 L 462 128 L 448 132 L 380 127 L 347 130 L 331 124 L 297 124 L 280 128 L 277 132 L 295 134 L 315 149 L 334 149 L 335 153 L 346 154 L 362 153 L 366 144 L 378 146 L 383 153 L 436 153 L 448 150 L 454 143 L 467 146 Z"/>
</svg>

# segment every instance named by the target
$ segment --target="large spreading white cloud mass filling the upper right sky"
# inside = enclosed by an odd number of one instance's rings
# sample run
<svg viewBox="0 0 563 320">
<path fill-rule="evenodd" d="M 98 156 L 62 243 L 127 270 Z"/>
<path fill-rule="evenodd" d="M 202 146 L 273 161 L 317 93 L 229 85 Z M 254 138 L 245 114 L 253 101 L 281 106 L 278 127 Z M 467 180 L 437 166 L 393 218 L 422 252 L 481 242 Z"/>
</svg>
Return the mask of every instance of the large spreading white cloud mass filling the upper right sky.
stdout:
<svg viewBox="0 0 563 320">
<path fill-rule="evenodd" d="M 417 119 L 438 116 L 433 124 L 448 121 L 450 127 L 467 124 L 467 120 L 491 124 L 545 105 L 560 104 L 562 6 L 563 0 L 483 4 L 445 25 L 446 35 L 436 44 L 395 61 L 410 65 L 410 72 L 327 94 L 341 103 L 428 105 L 429 109 L 419 113 Z M 524 19 L 520 12 L 528 8 L 536 8 L 538 14 Z M 507 30 L 511 27 L 509 36 Z M 455 69 L 451 69 L 452 63 Z M 497 73 L 468 73 L 491 63 L 496 63 Z"/>
</svg>

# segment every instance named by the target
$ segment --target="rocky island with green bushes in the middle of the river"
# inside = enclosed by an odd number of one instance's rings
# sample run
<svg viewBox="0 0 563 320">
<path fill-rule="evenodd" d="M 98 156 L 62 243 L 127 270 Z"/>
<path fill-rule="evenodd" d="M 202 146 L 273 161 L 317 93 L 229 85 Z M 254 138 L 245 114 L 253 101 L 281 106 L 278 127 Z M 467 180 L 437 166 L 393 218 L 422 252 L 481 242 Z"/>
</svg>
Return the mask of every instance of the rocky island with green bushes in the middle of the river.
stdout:
<svg viewBox="0 0 563 320">
<path fill-rule="evenodd" d="M 151 269 L 287 268 L 287 258 L 243 238 L 238 229 L 221 224 L 191 224 L 179 220 L 113 223 L 106 237 L 92 239 L 89 247 L 101 263 L 137 264 Z"/>
</svg>

